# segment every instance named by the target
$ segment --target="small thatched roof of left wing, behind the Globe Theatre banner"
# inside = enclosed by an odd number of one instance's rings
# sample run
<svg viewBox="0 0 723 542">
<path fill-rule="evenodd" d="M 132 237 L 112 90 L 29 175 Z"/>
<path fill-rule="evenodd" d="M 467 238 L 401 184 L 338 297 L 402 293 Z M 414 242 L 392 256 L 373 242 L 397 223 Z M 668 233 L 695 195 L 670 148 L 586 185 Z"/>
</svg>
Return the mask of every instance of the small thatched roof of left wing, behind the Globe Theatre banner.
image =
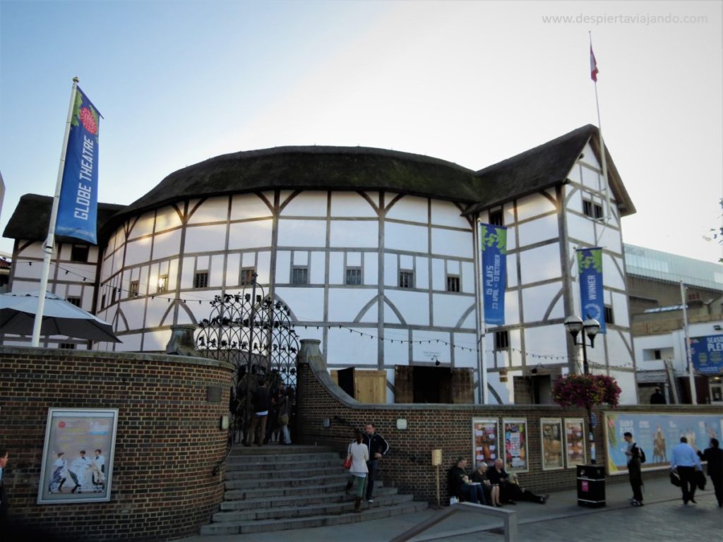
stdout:
<svg viewBox="0 0 723 542">
<path fill-rule="evenodd" d="M 112 203 L 98 203 L 98 231 L 108 220 L 123 209 L 125 205 Z M 27 239 L 28 241 L 43 241 L 48 237 L 48 224 L 53 208 L 53 198 L 38 194 L 25 194 L 20 197 L 20 203 L 15 207 L 12 217 L 5 227 L 3 237 L 13 239 Z M 82 243 L 71 237 L 56 236 L 57 241 Z"/>
</svg>

